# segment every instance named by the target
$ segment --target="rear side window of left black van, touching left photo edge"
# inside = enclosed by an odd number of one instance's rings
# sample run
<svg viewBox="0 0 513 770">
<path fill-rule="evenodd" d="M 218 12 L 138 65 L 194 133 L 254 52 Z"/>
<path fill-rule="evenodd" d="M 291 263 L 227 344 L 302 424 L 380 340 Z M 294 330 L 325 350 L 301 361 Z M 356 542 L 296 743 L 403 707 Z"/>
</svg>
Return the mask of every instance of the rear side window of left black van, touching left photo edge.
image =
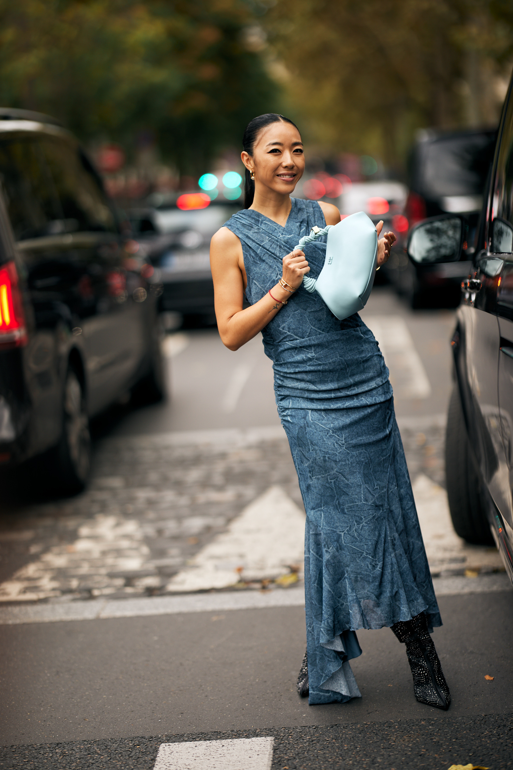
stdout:
<svg viewBox="0 0 513 770">
<path fill-rule="evenodd" d="M 36 137 L 0 140 L 0 185 L 16 240 L 62 233 L 62 209 Z"/>
</svg>

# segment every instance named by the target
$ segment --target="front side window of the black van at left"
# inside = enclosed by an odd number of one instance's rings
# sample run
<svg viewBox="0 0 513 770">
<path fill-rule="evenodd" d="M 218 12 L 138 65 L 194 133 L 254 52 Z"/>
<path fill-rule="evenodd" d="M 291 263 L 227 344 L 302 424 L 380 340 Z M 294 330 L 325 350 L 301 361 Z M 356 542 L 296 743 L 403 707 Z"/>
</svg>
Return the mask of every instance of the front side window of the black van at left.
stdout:
<svg viewBox="0 0 513 770">
<path fill-rule="evenodd" d="M 69 229 L 116 232 L 112 209 L 81 152 L 50 136 L 42 139 L 42 148 Z"/>
</svg>

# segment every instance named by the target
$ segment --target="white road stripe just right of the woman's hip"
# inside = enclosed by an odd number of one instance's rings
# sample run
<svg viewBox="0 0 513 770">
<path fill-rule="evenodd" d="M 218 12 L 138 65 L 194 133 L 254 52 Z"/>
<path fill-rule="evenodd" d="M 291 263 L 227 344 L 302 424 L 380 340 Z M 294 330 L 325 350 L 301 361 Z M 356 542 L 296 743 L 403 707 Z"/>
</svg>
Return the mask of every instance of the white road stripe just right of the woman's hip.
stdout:
<svg viewBox="0 0 513 770">
<path fill-rule="evenodd" d="M 378 340 L 390 371 L 395 397 L 428 398 L 431 385 L 405 319 L 401 316 L 364 316 L 364 320 Z"/>
</svg>

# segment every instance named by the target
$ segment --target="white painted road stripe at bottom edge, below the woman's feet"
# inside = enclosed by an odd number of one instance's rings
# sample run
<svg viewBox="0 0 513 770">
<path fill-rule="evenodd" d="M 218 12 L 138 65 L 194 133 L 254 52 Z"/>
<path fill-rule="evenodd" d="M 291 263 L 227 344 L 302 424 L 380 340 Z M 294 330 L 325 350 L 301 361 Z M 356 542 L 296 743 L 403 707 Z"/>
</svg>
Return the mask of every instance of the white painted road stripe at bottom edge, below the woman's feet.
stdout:
<svg viewBox="0 0 513 770">
<path fill-rule="evenodd" d="M 162 743 L 154 770 L 270 770 L 274 738 Z"/>
</svg>

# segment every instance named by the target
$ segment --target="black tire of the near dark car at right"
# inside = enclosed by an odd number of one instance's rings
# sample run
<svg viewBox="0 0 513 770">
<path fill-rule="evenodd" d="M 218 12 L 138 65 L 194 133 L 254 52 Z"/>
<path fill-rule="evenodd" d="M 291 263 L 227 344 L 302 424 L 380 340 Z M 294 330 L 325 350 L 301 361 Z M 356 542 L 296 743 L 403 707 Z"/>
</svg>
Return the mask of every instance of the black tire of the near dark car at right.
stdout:
<svg viewBox="0 0 513 770">
<path fill-rule="evenodd" d="M 472 544 L 493 545 L 482 504 L 478 474 L 471 462 L 470 442 L 461 408 L 458 383 L 449 401 L 445 434 L 445 475 L 452 524 L 456 534 Z"/>
</svg>

